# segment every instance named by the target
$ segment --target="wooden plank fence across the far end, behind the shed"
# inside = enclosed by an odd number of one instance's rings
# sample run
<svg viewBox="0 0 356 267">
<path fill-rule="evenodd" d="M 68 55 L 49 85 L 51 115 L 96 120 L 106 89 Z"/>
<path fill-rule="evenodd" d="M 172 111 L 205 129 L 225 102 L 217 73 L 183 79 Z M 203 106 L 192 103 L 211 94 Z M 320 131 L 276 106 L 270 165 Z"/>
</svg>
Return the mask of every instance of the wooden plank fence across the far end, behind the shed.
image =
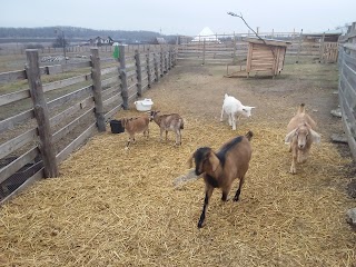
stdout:
<svg viewBox="0 0 356 267">
<path fill-rule="evenodd" d="M 284 38 L 291 44 L 287 47 L 286 56 L 295 58 L 306 58 L 319 62 L 336 62 L 338 56 L 337 42 L 308 42 L 301 34 L 295 32 L 287 36 L 264 34 L 268 38 Z M 201 65 L 245 65 L 247 59 L 248 42 L 244 41 L 247 34 L 216 34 L 217 41 L 206 41 L 201 37 L 198 41 L 179 41 L 178 60 L 190 60 Z"/>
</svg>

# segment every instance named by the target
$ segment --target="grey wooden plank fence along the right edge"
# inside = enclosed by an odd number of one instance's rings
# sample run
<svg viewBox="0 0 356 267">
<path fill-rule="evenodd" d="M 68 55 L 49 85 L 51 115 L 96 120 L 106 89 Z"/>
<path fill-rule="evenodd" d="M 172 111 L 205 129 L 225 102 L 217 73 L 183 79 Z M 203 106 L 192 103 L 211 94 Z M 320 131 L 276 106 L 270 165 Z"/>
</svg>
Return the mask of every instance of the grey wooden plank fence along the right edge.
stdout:
<svg viewBox="0 0 356 267">
<path fill-rule="evenodd" d="M 356 22 L 348 28 L 344 41 L 339 47 L 338 96 L 344 130 L 356 160 Z"/>
</svg>

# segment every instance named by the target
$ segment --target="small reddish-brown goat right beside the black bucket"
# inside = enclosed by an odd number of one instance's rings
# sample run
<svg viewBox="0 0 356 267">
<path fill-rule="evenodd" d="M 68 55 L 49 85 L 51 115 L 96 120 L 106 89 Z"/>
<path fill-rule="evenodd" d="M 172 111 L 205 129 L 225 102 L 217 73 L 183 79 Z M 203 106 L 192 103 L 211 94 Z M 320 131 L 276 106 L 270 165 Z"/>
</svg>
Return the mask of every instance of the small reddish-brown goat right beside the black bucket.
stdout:
<svg viewBox="0 0 356 267">
<path fill-rule="evenodd" d="M 121 119 L 121 123 L 125 128 L 125 130 L 129 135 L 129 139 L 127 141 L 126 148 L 129 148 L 130 142 L 135 142 L 135 134 L 144 132 L 144 136 L 146 138 L 149 137 L 149 117 L 148 115 L 142 115 L 138 118 L 123 118 Z"/>
</svg>

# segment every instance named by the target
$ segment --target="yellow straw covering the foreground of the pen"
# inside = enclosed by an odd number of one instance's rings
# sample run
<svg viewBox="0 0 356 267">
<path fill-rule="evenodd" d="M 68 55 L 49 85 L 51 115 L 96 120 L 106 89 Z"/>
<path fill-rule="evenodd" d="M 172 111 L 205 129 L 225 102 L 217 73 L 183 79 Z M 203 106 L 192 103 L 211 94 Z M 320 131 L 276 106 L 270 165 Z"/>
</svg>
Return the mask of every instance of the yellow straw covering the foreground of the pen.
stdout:
<svg viewBox="0 0 356 267">
<path fill-rule="evenodd" d="M 182 146 L 160 144 L 151 125 L 125 150 L 127 135 L 93 137 L 42 180 L 1 207 L 0 263 L 10 266 L 355 266 L 356 235 L 345 222 L 345 165 L 327 142 L 288 174 L 285 127 L 190 121 Z M 205 127 L 201 127 L 204 125 Z M 248 127 L 248 128 L 247 128 Z M 174 187 L 199 146 L 217 149 L 251 129 L 254 154 L 239 202 L 212 195 L 197 228 L 201 179 Z M 234 185 L 236 190 L 237 185 Z M 231 191 L 230 195 L 234 192 Z"/>
</svg>

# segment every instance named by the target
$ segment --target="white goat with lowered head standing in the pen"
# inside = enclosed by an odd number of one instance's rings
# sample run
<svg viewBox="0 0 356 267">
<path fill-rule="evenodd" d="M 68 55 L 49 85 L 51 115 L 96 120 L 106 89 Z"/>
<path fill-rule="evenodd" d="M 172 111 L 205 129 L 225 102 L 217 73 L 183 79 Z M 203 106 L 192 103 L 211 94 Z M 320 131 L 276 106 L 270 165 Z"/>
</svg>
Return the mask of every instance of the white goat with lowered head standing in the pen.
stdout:
<svg viewBox="0 0 356 267">
<path fill-rule="evenodd" d="M 251 110 L 254 108 L 255 107 L 244 106 L 235 97 L 225 93 L 220 121 L 224 120 L 224 113 L 227 113 L 229 118 L 229 126 L 233 126 L 233 130 L 236 130 L 236 116 L 237 120 L 239 120 L 240 116 L 248 118 L 251 116 Z"/>
</svg>

